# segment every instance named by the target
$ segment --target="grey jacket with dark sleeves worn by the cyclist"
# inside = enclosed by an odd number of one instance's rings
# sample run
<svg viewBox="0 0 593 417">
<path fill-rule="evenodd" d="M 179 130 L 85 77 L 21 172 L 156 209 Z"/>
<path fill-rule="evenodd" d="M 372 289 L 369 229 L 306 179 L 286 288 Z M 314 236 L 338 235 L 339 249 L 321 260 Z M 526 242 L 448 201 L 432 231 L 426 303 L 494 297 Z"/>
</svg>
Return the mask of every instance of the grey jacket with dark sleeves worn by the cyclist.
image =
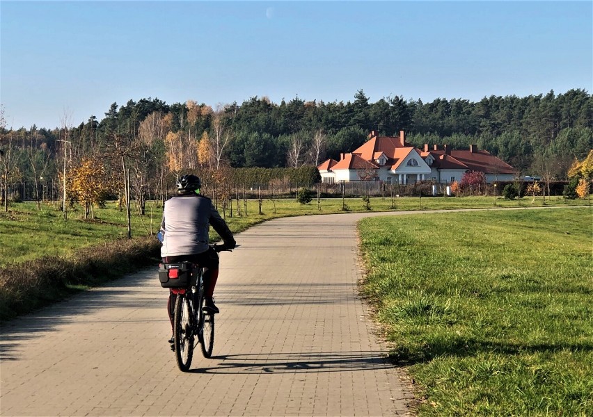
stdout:
<svg viewBox="0 0 593 417">
<path fill-rule="evenodd" d="M 223 238 L 226 247 L 235 247 L 235 239 L 211 199 L 195 193 L 171 197 L 165 202 L 163 210 L 161 256 L 206 252 L 210 224 Z"/>
</svg>

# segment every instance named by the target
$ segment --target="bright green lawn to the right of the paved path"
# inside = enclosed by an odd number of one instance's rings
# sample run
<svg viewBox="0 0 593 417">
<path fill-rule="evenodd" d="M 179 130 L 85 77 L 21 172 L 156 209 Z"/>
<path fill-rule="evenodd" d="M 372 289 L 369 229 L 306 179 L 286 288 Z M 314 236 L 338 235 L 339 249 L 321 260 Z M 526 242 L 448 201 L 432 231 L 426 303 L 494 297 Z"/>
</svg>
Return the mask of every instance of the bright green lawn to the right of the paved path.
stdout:
<svg viewBox="0 0 593 417">
<path fill-rule="evenodd" d="M 593 416 L 593 211 L 360 224 L 364 293 L 420 416 Z"/>
</svg>

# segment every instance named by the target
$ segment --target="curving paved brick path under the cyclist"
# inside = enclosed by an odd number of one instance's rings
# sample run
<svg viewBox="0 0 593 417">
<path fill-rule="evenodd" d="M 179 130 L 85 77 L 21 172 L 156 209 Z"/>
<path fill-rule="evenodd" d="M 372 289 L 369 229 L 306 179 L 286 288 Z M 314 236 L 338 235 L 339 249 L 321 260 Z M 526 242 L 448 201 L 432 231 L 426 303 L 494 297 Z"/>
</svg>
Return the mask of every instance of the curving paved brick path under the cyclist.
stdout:
<svg viewBox="0 0 593 417">
<path fill-rule="evenodd" d="M 380 214 L 380 213 L 377 213 Z M 157 268 L 1 329 L 1 416 L 400 416 L 357 295 L 362 214 L 273 220 L 221 259 L 212 359 L 177 370 Z"/>
</svg>

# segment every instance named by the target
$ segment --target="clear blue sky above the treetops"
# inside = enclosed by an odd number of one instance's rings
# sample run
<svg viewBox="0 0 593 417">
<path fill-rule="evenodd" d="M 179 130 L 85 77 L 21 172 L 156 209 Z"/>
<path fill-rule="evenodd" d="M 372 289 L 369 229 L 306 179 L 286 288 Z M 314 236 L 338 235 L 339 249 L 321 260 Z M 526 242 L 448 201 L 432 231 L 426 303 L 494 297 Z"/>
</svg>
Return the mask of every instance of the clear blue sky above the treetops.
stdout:
<svg viewBox="0 0 593 417">
<path fill-rule="evenodd" d="M 592 1 L 0 1 L 8 127 L 116 101 L 593 90 Z"/>
</svg>

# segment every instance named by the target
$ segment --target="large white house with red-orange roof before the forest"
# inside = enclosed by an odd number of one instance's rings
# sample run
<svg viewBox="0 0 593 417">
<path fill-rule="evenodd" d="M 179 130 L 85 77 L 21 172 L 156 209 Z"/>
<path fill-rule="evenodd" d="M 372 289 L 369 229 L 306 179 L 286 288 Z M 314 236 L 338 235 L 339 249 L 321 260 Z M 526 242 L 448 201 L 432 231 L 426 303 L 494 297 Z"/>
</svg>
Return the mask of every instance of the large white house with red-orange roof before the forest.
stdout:
<svg viewBox="0 0 593 417">
<path fill-rule="evenodd" d="M 349 154 L 340 154 L 340 161 L 328 159 L 317 167 L 324 183 L 360 180 L 381 180 L 408 184 L 416 181 L 452 183 L 460 181 L 465 172 L 480 171 L 492 181 L 512 181 L 514 168 L 477 145 L 470 149 L 450 149 L 424 145 L 418 149 L 400 136 L 369 134 L 364 145 Z"/>
</svg>

